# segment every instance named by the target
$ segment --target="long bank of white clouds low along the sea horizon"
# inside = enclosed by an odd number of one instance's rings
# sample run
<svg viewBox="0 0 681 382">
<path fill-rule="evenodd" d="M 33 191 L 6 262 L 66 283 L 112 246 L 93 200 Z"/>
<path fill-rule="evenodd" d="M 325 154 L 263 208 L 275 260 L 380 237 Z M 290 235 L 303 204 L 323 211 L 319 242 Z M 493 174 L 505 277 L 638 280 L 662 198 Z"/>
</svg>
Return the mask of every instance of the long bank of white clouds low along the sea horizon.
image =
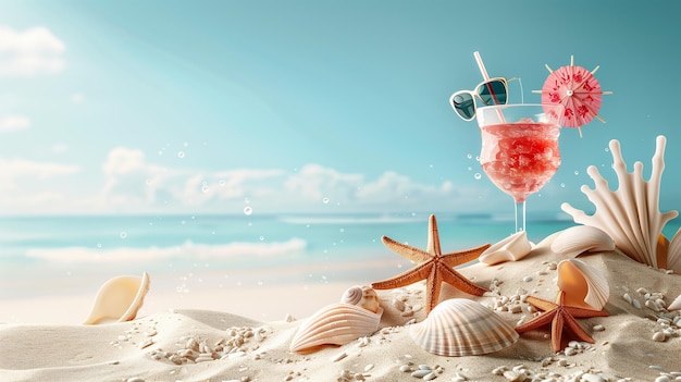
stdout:
<svg viewBox="0 0 681 382">
<path fill-rule="evenodd" d="M 467 212 L 480 208 L 488 188 L 449 181 L 422 184 L 391 171 L 367 178 L 319 164 L 296 172 L 164 167 L 126 147 L 109 152 L 100 178 L 87 174 L 67 183 L 40 182 L 79 171 L 77 165 L 0 160 L 0 196 L 12 201 L 0 207 L 17 213 L 242 213 L 247 206 L 253 213 Z"/>
</svg>

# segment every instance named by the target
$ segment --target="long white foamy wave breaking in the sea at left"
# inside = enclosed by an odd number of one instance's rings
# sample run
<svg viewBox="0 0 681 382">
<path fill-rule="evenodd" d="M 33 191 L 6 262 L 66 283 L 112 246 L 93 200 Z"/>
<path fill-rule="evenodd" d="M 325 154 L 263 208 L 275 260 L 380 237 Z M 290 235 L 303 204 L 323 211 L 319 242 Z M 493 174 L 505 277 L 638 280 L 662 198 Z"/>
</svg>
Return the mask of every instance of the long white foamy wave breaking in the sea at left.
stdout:
<svg viewBox="0 0 681 382">
<path fill-rule="evenodd" d="M 162 259 L 186 260 L 228 260 L 237 257 L 247 259 L 296 256 L 304 252 L 307 242 L 290 238 L 272 243 L 230 243 L 220 245 L 185 242 L 170 247 L 148 248 L 35 248 L 26 251 L 26 257 L 51 262 L 123 262 L 157 261 Z"/>
</svg>

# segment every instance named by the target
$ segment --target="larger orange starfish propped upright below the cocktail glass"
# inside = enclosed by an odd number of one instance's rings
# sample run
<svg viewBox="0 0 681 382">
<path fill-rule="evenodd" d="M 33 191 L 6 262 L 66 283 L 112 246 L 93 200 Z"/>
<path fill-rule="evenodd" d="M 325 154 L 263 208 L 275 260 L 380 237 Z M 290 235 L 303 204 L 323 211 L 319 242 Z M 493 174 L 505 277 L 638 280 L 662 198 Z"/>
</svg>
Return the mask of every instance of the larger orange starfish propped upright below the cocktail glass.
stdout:
<svg viewBox="0 0 681 382">
<path fill-rule="evenodd" d="M 443 255 L 439 249 L 437 221 L 433 214 L 431 214 L 429 220 L 426 250 L 397 243 L 386 236 L 383 236 L 382 239 L 386 247 L 416 262 L 418 267 L 392 279 L 372 283 L 371 287 L 375 289 L 392 289 L 413 284 L 417 281 L 425 280 L 426 313 L 430 313 L 439 301 L 439 289 L 443 282 L 475 296 L 482 296 L 485 292 L 487 292 L 487 289 L 473 284 L 470 280 L 461 275 L 461 273 L 455 271 L 454 267 L 476 259 L 485 249 L 490 247 L 490 244 L 468 250 Z"/>
</svg>

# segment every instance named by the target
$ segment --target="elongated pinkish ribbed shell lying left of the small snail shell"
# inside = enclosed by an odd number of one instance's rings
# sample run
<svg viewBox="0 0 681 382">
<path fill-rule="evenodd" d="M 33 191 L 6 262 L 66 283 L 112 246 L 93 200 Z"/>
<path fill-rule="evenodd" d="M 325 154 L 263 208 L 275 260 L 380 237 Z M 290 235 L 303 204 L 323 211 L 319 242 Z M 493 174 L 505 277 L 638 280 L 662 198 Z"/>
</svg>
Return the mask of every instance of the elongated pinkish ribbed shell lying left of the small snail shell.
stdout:
<svg viewBox="0 0 681 382">
<path fill-rule="evenodd" d="M 379 330 L 383 309 L 369 311 L 351 304 L 323 307 L 298 328 L 290 341 L 292 352 L 310 352 L 323 345 L 345 345 Z"/>
</svg>

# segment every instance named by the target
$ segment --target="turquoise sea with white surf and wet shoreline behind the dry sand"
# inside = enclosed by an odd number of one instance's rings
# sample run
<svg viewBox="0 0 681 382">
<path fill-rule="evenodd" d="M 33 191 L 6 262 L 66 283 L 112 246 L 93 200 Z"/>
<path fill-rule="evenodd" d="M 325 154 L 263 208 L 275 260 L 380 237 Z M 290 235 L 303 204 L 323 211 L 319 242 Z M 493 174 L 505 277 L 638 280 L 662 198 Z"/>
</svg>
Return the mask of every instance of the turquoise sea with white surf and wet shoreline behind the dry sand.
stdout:
<svg viewBox="0 0 681 382">
<path fill-rule="evenodd" d="M 529 219 L 535 243 L 573 225 L 559 215 Z M 443 251 L 495 243 L 513 229 L 491 214 L 439 213 L 437 222 Z M 673 221 L 665 233 L 678 227 Z M 91 293 L 92 279 L 143 271 L 177 292 L 198 283 L 369 282 L 410 267 L 383 235 L 425 248 L 428 214 L 4 217 L 0 300 Z"/>
</svg>

